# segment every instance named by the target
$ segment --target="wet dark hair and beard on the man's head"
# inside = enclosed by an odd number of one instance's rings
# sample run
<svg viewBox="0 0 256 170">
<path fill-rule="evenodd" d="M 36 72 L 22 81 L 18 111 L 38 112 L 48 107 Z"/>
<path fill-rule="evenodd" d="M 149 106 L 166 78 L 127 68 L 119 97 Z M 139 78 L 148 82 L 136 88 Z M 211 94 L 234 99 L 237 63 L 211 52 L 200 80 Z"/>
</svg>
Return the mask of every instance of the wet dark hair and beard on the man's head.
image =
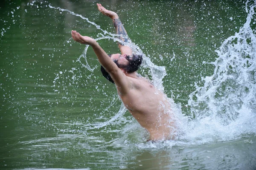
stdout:
<svg viewBox="0 0 256 170">
<path fill-rule="evenodd" d="M 109 54 L 108 56 L 111 57 L 111 55 L 112 54 Z M 113 60 L 113 62 L 115 62 L 119 68 L 123 68 L 124 71 L 126 71 L 127 73 L 132 73 L 134 71 L 137 71 L 140 68 L 140 65 L 142 63 L 142 55 L 133 54 L 132 56 L 126 56 L 125 58 L 129 62 L 128 65 L 119 64 L 118 59 Z M 103 77 L 105 77 L 108 81 L 115 84 L 110 74 L 105 70 L 104 67 L 101 66 L 100 71 L 102 72 Z"/>
</svg>

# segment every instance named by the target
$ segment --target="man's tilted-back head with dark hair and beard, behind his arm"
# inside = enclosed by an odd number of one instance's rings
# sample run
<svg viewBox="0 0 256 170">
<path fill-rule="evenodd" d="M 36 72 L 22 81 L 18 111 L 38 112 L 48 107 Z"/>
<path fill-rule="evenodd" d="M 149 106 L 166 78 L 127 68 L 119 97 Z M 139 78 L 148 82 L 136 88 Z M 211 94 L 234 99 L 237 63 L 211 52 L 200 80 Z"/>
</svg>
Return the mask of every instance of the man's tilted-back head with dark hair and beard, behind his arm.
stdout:
<svg viewBox="0 0 256 170">
<path fill-rule="evenodd" d="M 142 63 L 142 56 L 141 55 L 131 55 L 128 56 L 126 54 L 110 54 L 108 55 L 113 59 L 113 62 L 116 63 L 116 65 L 119 68 L 122 68 L 126 73 L 132 73 L 134 71 L 137 71 Z M 108 81 L 114 83 L 111 76 L 108 74 L 108 72 L 101 66 L 101 72 L 102 75 L 108 79 Z M 114 83 L 115 84 L 115 83 Z"/>
</svg>

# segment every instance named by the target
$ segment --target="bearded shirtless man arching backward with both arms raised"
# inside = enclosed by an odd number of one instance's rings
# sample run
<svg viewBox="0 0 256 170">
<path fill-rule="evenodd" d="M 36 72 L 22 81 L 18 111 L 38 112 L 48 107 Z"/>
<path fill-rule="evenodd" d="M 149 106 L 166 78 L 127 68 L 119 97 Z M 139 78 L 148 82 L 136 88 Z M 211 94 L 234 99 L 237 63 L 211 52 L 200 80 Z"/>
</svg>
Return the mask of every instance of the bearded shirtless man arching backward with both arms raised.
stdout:
<svg viewBox="0 0 256 170">
<path fill-rule="evenodd" d="M 118 15 L 101 4 L 97 6 L 102 14 L 113 20 L 116 34 L 122 34 L 119 38 L 127 42 L 127 33 Z M 149 140 L 159 141 L 175 137 L 173 114 L 167 97 L 136 72 L 142 61 L 141 56 L 134 55 L 129 46 L 121 43 L 118 43 L 121 54 L 109 56 L 93 38 L 81 36 L 73 30 L 72 38 L 81 44 L 92 46 L 103 66 L 102 71 L 110 75 L 104 77 L 116 85 L 117 93 L 125 107 L 140 125 L 149 131 Z"/>
</svg>

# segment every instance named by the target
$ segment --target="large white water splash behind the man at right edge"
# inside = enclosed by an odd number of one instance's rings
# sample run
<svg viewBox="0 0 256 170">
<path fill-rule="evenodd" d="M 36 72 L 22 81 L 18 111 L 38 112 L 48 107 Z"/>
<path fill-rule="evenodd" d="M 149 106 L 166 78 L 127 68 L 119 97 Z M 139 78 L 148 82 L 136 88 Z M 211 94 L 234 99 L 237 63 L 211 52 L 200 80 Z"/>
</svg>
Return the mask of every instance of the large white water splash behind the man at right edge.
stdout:
<svg viewBox="0 0 256 170">
<path fill-rule="evenodd" d="M 214 73 L 189 96 L 195 118 L 190 137 L 230 140 L 256 133 L 256 36 L 250 27 L 256 4 L 249 10 L 247 4 L 246 23 L 215 51 Z"/>
</svg>

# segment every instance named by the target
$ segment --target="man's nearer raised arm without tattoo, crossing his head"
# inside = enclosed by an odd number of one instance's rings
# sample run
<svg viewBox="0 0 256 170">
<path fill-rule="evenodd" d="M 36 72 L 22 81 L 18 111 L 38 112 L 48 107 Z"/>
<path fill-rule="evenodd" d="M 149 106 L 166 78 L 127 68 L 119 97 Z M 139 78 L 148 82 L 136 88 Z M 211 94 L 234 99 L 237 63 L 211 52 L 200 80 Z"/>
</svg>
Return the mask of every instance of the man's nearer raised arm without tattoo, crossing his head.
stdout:
<svg viewBox="0 0 256 170">
<path fill-rule="evenodd" d="M 108 71 L 111 78 L 116 84 L 116 88 L 122 94 L 126 94 L 129 88 L 129 81 L 127 76 L 121 71 L 120 68 L 113 62 L 108 54 L 99 46 L 99 44 L 91 37 L 81 36 L 76 31 L 71 32 L 73 40 L 81 44 L 91 45 L 101 65 Z"/>
</svg>

